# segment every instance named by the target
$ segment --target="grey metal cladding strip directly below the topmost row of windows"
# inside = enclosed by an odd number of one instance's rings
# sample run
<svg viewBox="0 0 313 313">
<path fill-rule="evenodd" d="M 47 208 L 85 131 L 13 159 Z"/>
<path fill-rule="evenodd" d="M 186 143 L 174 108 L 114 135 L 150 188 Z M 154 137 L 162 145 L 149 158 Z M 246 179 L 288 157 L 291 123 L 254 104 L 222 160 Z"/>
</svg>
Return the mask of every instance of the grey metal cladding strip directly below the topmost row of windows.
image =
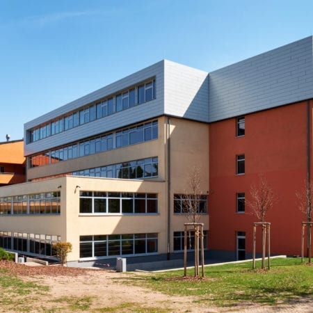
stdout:
<svg viewBox="0 0 313 313">
<path fill-rule="evenodd" d="M 163 115 L 163 101 L 162 99 L 154 99 L 145 104 L 139 104 L 125 111 L 109 115 L 106 118 L 88 122 L 35 143 L 29 143 L 24 146 L 24 154 L 27 156 L 68 143 L 81 141 L 83 138 L 97 136 L 98 134 L 126 127 L 159 115 Z"/>
</svg>

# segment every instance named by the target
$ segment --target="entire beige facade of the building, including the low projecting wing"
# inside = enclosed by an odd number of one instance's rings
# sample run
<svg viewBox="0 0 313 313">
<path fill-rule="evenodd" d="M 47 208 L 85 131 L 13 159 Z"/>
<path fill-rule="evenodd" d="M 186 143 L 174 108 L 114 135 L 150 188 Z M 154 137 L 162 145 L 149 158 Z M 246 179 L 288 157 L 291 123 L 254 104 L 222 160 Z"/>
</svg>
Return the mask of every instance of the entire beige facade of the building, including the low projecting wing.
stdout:
<svg viewBox="0 0 313 313">
<path fill-rule="evenodd" d="M 173 233 L 182 232 L 186 216 L 174 214 L 174 195 L 188 192 L 186 177 L 193 166 L 202 172 L 202 192 L 209 190 L 208 125 L 202 122 L 158 118 L 158 138 L 136 145 L 61 161 L 28 170 L 28 179 L 63 175 L 40 182 L 29 182 L 0 189 L 0 197 L 32 195 L 59 191 L 60 214 L 1 214 L 0 231 L 20 234 L 60 236 L 72 243 L 68 262 L 90 261 L 98 257 L 81 257 L 81 236 L 157 234 L 155 254 L 173 252 Z M 74 170 L 122 163 L 150 157 L 158 158 L 158 175 L 151 179 L 110 179 L 71 176 Z M 86 214 L 80 213 L 81 192 L 157 194 L 157 212 L 148 214 Z M 29 201 L 29 200 L 28 200 Z M 24 212 L 25 213 L 25 212 Z M 201 222 L 209 229 L 209 218 Z M 99 257 L 100 259 L 104 257 Z"/>
</svg>

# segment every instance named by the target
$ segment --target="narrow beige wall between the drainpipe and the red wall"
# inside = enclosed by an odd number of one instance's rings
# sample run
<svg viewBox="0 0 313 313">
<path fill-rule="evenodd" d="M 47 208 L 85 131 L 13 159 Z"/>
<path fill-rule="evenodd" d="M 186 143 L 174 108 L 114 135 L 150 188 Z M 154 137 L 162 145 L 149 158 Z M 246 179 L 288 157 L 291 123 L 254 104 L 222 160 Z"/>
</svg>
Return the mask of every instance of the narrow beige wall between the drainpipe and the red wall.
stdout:
<svg viewBox="0 0 313 313">
<path fill-rule="evenodd" d="M 185 214 L 174 214 L 174 195 L 190 193 L 188 177 L 193 167 L 200 168 L 202 194 L 209 191 L 209 133 L 206 123 L 171 118 L 170 120 L 170 245 L 173 232 L 183 231 L 187 220 Z M 204 230 L 209 230 L 208 214 L 202 214 L 199 220 Z"/>
</svg>

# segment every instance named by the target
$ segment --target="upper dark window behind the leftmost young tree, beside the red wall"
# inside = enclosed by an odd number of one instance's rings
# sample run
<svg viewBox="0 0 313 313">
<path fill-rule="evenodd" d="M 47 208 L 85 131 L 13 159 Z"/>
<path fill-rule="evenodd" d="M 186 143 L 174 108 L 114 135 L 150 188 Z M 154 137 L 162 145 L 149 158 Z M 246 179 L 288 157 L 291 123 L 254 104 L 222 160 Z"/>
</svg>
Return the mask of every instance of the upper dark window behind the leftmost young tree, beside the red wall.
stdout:
<svg viewBox="0 0 313 313">
<path fill-rule="evenodd" d="M 207 195 L 174 195 L 174 213 L 187 214 L 193 212 L 198 207 L 195 214 L 207 213 Z"/>
</svg>

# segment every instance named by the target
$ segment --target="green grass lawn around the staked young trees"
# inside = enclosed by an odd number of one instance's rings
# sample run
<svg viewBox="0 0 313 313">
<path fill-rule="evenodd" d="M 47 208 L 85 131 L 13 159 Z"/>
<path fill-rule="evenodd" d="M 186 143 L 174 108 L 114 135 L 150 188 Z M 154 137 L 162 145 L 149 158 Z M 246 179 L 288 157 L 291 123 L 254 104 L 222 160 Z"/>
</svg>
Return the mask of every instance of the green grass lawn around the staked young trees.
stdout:
<svg viewBox="0 0 313 313">
<path fill-rule="evenodd" d="M 135 282 L 165 294 L 194 296 L 206 305 L 232 306 L 243 302 L 266 305 L 290 303 L 313 295 L 313 266 L 297 258 L 271 260 L 271 269 L 252 270 L 252 262 L 205 267 L 204 279 L 184 279 L 183 271 L 169 271 L 134 278 Z M 132 281 L 134 283 L 134 281 Z"/>
</svg>

